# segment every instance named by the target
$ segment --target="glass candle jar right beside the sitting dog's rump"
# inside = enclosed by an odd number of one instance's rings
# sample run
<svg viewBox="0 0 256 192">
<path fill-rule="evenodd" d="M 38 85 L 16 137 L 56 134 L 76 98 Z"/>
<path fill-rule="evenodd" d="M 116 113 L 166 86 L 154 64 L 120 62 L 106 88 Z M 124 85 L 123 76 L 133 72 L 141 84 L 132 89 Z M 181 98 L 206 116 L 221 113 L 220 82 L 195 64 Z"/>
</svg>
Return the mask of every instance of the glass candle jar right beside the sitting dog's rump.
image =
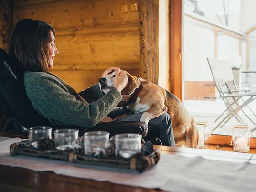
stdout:
<svg viewBox="0 0 256 192">
<path fill-rule="evenodd" d="M 208 127 L 208 122 L 206 121 L 199 121 L 196 123 L 198 132 L 199 132 L 199 147 L 204 146 L 204 141 L 207 141 L 211 137 L 210 129 Z"/>
</svg>

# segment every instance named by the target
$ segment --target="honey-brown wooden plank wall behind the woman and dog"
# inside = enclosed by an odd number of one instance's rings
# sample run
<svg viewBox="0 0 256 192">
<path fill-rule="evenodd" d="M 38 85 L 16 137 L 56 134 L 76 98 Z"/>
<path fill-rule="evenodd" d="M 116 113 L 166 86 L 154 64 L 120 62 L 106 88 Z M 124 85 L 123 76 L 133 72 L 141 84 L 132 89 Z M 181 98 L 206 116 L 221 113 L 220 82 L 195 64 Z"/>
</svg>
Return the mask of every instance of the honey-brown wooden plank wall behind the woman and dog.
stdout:
<svg viewBox="0 0 256 192">
<path fill-rule="evenodd" d="M 14 0 L 13 23 L 49 22 L 59 54 L 52 73 L 76 91 L 98 82 L 118 66 L 141 76 L 137 0 Z"/>
</svg>

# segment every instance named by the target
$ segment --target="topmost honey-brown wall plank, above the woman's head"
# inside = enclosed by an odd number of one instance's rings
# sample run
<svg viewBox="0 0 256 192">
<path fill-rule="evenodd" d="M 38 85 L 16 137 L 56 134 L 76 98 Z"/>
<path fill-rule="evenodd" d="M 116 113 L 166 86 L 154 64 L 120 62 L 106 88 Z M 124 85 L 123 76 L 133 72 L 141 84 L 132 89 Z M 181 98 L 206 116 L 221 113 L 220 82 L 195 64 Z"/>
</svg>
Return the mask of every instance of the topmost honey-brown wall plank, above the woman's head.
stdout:
<svg viewBox="0 0 256 192">
<path fill-rule="evenodd" d="M 22 18 L 47 21 L 55 29 L 74 29 L 138 23 L 138 12 L 121 13 L 121 5 L 135 0 L 62 0 L 32 5 L 14 1 L 13 21 Z M 136 1 L 135 1 L 136 2 Z"/>
</svg>

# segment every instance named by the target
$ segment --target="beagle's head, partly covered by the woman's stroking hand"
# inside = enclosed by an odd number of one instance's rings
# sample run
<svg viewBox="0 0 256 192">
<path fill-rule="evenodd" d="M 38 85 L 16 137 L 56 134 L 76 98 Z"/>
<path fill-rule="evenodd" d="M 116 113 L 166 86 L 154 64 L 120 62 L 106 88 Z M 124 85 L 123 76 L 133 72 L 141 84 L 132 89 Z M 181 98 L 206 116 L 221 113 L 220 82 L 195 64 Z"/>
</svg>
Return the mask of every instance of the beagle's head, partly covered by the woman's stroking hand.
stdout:
<svg viewBox="0 0 256 192">
<path fill-rule="evenodd" d="M 128 82 L 126 87 L 121 91 L 122 95 L 131 95 L 135 89 L 139 87 L 138 80 L 136 76 L 130 75 L 127 71 L 124 71 L 128 77 Z M 116 77 L 116 71 L 112 71 L 106 77 L 99 79 L 100 90 L 106 94 L 114 86 L 114 79 Z"/>
</svg>

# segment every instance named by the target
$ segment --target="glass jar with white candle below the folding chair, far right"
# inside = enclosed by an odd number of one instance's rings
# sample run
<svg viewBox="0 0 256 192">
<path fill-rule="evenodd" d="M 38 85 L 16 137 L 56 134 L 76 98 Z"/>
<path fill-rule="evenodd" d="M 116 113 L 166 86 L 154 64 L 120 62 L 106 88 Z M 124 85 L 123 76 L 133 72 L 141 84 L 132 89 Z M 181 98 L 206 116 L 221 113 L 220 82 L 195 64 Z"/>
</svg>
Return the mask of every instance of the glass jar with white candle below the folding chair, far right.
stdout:
<svg viewBox="0 0 256 192">
<path fill-rule="evenodd" d="M 232 130 L 233 150 L 238 152 L 250 151 L 250 130 L 247 123 L 237 123 Z"/>
</svg>

